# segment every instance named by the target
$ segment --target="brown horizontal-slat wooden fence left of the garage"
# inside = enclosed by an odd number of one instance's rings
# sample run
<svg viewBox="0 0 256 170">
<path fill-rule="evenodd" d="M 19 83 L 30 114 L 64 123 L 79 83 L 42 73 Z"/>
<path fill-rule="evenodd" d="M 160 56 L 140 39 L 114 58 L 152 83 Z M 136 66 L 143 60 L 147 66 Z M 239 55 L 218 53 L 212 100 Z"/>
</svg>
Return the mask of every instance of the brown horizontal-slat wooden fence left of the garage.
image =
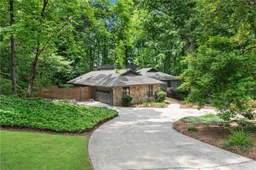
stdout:
<svg viewBox="0 0 256 170">
<path fill-rule="evenodd" d="M 91 87 L 58 88 L 57 86 L 46 86 L 43 92 L 38 92 L 37 97 L 48 99 L 75 99 L 76 101 L 87 101 L 92 98 Z"/>
</svg>

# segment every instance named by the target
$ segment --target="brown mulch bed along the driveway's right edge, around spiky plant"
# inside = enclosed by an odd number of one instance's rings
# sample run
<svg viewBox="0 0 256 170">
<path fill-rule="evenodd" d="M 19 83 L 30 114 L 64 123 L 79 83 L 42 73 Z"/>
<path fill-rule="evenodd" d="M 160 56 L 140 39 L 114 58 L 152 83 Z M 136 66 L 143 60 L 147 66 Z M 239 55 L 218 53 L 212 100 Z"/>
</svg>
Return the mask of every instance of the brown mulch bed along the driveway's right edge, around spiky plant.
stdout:
<svg viewBox="0 0 256 170">
<path fill-rule="evenodd" d="M 187 131 L 188 126 L 197 127 L 198 131 L 192 132 Z M 216 126 L 216 125 L 205 125 L 205 124 L 191 124 L 182 122 L 181 120 L 175 122 L 173 124 L 173 128 L 179 131 L 180 133 L 192 137 L 194 139 L 198 139 L 207 144 L 211 144 L 213 146 L 217 146 L 218 148 L 222 148 L 224 150 L 228 150 L 229 152 L 233 152 L 235 154 L 240 154 L 247 158 L 251 158 L 252 160 L 256 160 L 256 134 L 253 134 L 253 143 L 255 144 L 249 152 L 244 152 L 240 148 L 224 148 L 223 143 L 228 139 L 228 135 L 230 135 L 230 127 Z"/>
</svg>

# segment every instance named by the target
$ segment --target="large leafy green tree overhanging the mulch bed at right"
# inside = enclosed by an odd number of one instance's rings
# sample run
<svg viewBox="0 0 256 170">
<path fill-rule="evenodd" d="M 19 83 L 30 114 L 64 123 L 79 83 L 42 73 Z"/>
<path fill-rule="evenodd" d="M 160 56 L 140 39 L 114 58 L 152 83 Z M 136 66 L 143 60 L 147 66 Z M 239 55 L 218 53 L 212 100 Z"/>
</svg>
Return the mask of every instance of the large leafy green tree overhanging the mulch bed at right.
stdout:
<svg viewBox="0 0 256 170">
<path fill-rule="evenodd" d="M 255 90 L 255 1 L 201 1 L 196 52 L 185 61 L 181 88 L 193 87 L 188 102 L 210 101 L 225 118 L 246 112 Z"/>
</svg>

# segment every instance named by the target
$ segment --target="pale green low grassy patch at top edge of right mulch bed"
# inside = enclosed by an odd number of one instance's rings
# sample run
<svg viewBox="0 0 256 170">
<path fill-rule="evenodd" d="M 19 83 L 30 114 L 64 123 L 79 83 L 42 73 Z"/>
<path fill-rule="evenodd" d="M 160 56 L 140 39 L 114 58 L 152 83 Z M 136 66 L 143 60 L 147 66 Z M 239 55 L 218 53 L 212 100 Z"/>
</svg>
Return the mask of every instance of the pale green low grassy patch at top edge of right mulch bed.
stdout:
<svg viewBox="0 0 256 170">
<path fill-rule="evenodd" d="M 203 116 L 186 116 L 181 118 L 182 122 L 194 124 L 211 124 L 216 125 L 225 122 L 223 119 L 215 114 L 206 114 Z"/>
</svg>

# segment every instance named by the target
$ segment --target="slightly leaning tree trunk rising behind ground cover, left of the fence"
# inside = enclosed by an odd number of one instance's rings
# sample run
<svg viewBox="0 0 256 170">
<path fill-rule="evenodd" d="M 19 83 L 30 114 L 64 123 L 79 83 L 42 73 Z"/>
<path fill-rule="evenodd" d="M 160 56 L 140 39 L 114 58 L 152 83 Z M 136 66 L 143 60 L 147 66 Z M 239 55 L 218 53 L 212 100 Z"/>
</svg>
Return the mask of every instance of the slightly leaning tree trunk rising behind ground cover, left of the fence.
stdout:
<svg viewBox="0 0 256 170">
<path fill-rule="evenodd" d="M 49 0 L 43 0 L 43 9 L 41 10 L 41 20 L 40 20 L 41 24 L 43 24 L 43 16 L 45 16 L 45 8 L 47 7 L 48 2 L 49 2 Z M 38 35 L 37 35 L 37 47 L 36 47 L 35 58 L 33 59 L 33 63 L 32 63 L 30 82 L 28 84 L 27 97 L 32 96 L 33 80 L 35 80 L 35 75 L 37 72 L 37 61 L 38 61 L 38 58 L 39 58 L 41 52 L 44 50 L 44 48 L 40 48 L 40 36 L 41 36 L 41 29 L 39 29 Z"/>
</svg>

